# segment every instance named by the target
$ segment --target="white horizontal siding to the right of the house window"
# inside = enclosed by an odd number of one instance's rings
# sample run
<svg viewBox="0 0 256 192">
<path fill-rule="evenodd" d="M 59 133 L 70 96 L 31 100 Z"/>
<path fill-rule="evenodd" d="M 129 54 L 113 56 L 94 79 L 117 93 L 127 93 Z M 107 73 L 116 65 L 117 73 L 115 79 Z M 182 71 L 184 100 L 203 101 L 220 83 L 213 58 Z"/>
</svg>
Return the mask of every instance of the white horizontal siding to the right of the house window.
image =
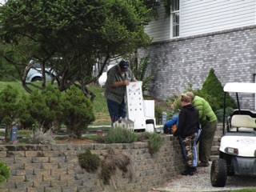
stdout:
<svg viewBox="0 0 256 192">
<path fill-rule="evenodd" d="M 255 0 L 180 2 L 180 37 L 255 24 Z"/>
</svg>

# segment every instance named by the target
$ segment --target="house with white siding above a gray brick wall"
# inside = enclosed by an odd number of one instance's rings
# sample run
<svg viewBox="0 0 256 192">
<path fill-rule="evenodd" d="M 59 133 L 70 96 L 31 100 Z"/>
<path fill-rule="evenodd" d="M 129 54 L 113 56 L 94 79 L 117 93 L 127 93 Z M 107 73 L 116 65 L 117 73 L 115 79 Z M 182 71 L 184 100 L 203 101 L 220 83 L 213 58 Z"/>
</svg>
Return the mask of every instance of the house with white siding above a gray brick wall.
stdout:
<svg viewBox="0 0 256 192">
<path fill-rule="evenodd" d="M 139 58 L 150 56 L 155 71 L 150 95 L 168 98 L 201 89 L 211 68 L 222 86 L 226 82 L 256 82 L 255 0 L 173 0 L 170 17 L 163 6 L 158 19 L 146 26 L 154 39 Z M 234 96 L 231 94 L 231 96 Z M 255 110 L 255 95 L 242 98 Z"/>
</svg>

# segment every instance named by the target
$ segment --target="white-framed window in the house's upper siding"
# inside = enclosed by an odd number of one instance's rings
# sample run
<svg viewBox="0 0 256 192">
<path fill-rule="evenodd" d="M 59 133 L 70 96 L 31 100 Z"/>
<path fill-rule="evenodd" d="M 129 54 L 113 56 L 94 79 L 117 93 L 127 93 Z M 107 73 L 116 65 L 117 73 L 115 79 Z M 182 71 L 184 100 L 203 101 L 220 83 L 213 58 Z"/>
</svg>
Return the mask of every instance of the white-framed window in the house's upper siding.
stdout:
<svg viewBox="0 0 256 192">
<path fill-rule="evenodd" d="M 172 19 L 172 37 L 179 36 L 179 0 L 173 0 L 171 6 L 171 19 Z"/>
</svg>

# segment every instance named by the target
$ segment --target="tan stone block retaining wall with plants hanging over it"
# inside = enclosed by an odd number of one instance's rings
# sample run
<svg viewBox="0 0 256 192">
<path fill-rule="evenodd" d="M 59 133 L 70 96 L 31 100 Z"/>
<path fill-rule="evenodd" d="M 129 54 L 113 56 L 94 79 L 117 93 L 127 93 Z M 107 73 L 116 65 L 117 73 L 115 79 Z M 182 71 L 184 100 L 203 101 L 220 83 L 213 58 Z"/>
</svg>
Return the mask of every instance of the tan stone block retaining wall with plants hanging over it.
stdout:
<svg viewBox="0 0 256 192">
<path fill-rule="evenodd" d="M 98 174 L 87 173 L 78 163 L 78 154 L 89 149 L 104 158 L 109 149 L 126 154 L 134 170 L 132 180 L 119 178 L 117 189 L 103 185 Z M 10 166 L 11 176 L 1 192 L 85 192 L 149 191 L 168 182 L 185 169 L 177 138 L 165 137 L 161 150 L 151 155 L 146 142 L 131 144 L 84 144 L 49 146 L 0 146 L 0 159 Z"/>
</svg>

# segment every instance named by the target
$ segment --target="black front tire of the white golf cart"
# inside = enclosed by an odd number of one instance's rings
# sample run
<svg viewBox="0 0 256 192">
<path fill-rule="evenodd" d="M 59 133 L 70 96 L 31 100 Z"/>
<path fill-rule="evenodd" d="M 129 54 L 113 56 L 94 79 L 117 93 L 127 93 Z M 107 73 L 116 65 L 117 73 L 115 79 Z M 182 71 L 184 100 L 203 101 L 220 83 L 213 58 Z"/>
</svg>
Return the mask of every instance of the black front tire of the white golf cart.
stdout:
<svg viewBox="0 0 256 192">
<path fill-rule="evenodd" d="M 226 161 L 223 158 L 214 160 L 210 167 L 210 182 L 212 186 L 226 185 Z"/>
</svg>

